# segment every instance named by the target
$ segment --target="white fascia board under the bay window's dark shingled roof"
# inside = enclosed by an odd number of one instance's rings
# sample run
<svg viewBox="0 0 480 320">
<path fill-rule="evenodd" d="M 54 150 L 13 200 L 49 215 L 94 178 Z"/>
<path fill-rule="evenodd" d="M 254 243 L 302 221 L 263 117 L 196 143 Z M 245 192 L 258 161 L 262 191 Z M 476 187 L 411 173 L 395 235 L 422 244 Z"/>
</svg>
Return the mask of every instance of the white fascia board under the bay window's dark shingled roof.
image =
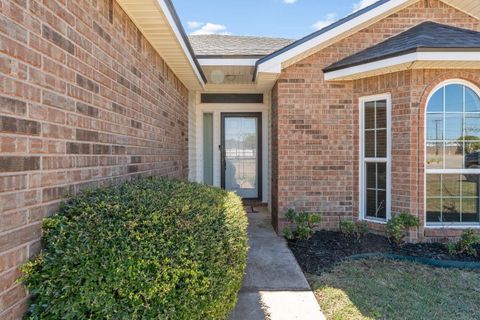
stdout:
<svg viewBox="0 0 480 320">
<path fill-rule="evenodd" d="M 480 61 L 479 52 L 414 52 L 398 57 L 365 63 L 350 68 L 326 72 L 325 80 L 342 79 L 360 73 L 389 68 L 417 61 Z"/>
</svg>

